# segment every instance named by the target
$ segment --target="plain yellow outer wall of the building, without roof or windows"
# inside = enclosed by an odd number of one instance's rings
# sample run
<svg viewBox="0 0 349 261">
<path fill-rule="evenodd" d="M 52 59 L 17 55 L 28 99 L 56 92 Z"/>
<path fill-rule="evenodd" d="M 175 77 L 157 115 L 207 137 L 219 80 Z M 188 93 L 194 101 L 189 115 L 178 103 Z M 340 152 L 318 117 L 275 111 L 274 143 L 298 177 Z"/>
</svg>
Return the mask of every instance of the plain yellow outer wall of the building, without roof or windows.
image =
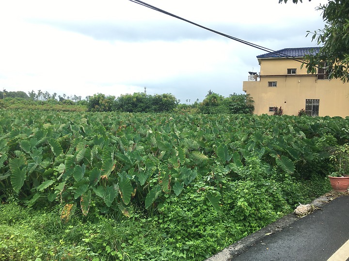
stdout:
<svg viewBox="0 0 349 261">
<path fill-rule="evenodd" d="M 269 107 L 282 107 L 286 115 L 298 115 L 306 99 L 319 99 L 319 116 L 349 116 L 349 83 L 338 79 L 320 80 L 307 74 L 305 66 L 287 58 L 259 59 L 260 80 L 243 82 L 243 90 L 254 99 L 257 115 L 270 114 Z M 287 74 L 287 69 L 297 69 Z M 277 82 L 277 87 L 268 87 Z"/>
</svg>

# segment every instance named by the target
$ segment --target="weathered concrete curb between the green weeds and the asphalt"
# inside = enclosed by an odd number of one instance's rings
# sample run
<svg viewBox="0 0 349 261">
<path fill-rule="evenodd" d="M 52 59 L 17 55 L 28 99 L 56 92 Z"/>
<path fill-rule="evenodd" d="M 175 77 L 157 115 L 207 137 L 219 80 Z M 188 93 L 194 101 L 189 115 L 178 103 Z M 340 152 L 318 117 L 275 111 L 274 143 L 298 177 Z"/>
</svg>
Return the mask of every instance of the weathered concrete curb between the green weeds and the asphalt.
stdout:
<svg viewBox="0 0 349 261">
<path fill-rule="evenodd" d="M 331 202 L 333 199 L 348 194 L 348 192 L 341 193 L 331 191 L 313 200 L 311 204 L 313 204 L 317 208 L 320 208 L 322 205 Z M 263 238 L 272 236 L 276 232 L 283 230 L 284 228 L 296 222 L 298 219 L 299 217 L 297 217 L 293 213 L 281 217 L 265 228 L 262 228 L 254 232 L 253 234 L 240 239 L 233 245 L 224 248 L 222 251 L 206 259 L 206 261 L 231 261 L 234 257 L 245 252 L 251 246 L 254 246 L 254 244 L 256 244 L 258 241 L 261 241 Z"/>
</svg>

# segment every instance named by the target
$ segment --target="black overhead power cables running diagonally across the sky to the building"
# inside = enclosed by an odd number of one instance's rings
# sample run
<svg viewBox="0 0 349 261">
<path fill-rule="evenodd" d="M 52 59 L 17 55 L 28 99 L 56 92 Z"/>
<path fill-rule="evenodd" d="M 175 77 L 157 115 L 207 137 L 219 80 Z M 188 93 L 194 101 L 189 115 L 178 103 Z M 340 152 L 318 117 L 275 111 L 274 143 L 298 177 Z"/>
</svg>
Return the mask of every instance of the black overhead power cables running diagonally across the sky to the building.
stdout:
<svg viewBox="0 0 349 261">
<path fill-rule="evenodd" d="M 175 15 L 175 14 L 171 14 L 171 13 L 169 13 L 169 12 L 167 12 L 167 11 L 164 11 L 164 10 L 158 8 L 158 7 L 155 7 L 155 6 L 153 6 L 153 5 L 150 5 L 150 4 L 146 3 L 146 2 L 143 2 L 143 1 L 140 1 L 140 0 L 129 0 L 129 1 L 134 2 L 134 3 L 137 3 L 137 4 L 140 4 L 140 5 L 143 5 L 143 6 L 147 7 L 147 8 L 153 9 L 153 10 L 158 11 L 158 12 L 160 12 L 160 13 L 170 15 L 170 16 L 172 16 L 172 17 L 174 17 L 174 18 L 180 19 L 180 20 L 182 20 L 182 21 L 185 21 L 185 22 L 187 22 L 187 23 L 190 23 L 190 24 L 195 25 L 195 26 L 197 26 L 197 27 L 200 27 L 200 28 L 202 28 L 202 29 L 206 29 L 206 30 L 208 30 L 208 31 L 211 31 L 211 32 L 214 32 L 214 33 L 216 33 L 216 34 L 222 35 L 222 36 L 224 36 L 224 37 L 227 37 L 227 38 L 232 39 L 232 40 L 234 40 L 234 41 L 237 41 L 237 42 L 239 42 L 239 43 L 247 44 L 247 45 L 252 46 L 252 47 L 254 47 L 254 48 L 263 50 L 263 51 L 265 51 L 265 52 L 273 53 L 273 54 L 276 54 L 276 55 L 278 55 L 278 56 L 281 56 L 281 57 L 284 57 L 284 58 L 289 58 L 289 59 L 292 59 L 292 60 L 295 60 L 295 61 L 298 61 L 298 62 L 301 62 L 301 63 L 304 62 L 304 61 L 299 60 L 299 59 L 297 59 L 297 58 L 295 58 L 295 57 L 293 57 L 293 56 L 289 56 L 289 55 L 286 55 L 286 54 L 283 54 L 283 53 L 274 51 L 274 50 L 272 50 L 272 49 L 269 49 L 269 48 L 260 46 L 260 45 L 258 45 L 258 44 L 250 43 L 250 42 L 247 42 L 247 41 L 238 39 L 238 38 L 236 38 L 236 37 L 234 37 L 234 36 L 231 36 L 231 35 L 222 33 L 222 32 L 220 32 L 220 31 L 217 31 L 217 30 L 210 29 L 210 28 L 208 28 L 208 27 L 199 25 L 199 24 L 194 23 L 194 22 L 192 22 L 192 21 L 190 21 L 190 20 L 187 20 L 187 19 L 185 19 L 185 18 L 183 18 L 183 17 L 180 17 L 180 16 Z"/>
</svg>

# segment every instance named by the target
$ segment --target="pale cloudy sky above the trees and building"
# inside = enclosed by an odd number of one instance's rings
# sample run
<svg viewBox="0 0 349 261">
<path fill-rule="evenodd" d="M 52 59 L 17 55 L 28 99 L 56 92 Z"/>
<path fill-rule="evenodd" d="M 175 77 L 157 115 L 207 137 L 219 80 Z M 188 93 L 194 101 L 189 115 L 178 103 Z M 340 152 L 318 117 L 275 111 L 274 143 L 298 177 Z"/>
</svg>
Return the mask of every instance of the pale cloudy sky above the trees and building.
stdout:
<svg viewBox="0 0 349 261">
<path fill-rule="evenodd" d="M 324 27 L 319 0 L 143 1 L 272 50 L 316 46 L 306 31 Z M 130 0 L 0 1 L 1 90 L 84 99 L 146 87 L 201 102 L 243 93 L 264 53 Z"/>
</svg>

